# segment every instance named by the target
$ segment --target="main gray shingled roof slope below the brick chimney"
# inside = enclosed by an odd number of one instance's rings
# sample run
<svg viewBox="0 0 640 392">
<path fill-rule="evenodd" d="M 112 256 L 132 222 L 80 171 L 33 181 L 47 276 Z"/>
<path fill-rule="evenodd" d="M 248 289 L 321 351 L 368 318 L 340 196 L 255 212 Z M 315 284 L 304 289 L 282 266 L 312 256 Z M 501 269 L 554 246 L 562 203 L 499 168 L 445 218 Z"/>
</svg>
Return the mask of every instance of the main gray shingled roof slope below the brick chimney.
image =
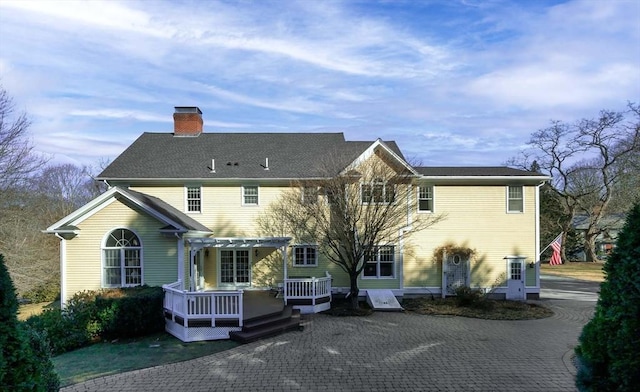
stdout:
<svg viewBox="0 0 640 392">
<path fill-rule="evenodd" d="M 99 179 L 318 178 L 337 174 L 372 141 L 342 133 L 202 133 L 197 137 L 144 133 Z M 395 142 L 386 142 L 402 157 Z M 269 159 L 269 170 L 262 165 Z M 215 159 L 215 173 L 211 160 Z"/>
</svg>

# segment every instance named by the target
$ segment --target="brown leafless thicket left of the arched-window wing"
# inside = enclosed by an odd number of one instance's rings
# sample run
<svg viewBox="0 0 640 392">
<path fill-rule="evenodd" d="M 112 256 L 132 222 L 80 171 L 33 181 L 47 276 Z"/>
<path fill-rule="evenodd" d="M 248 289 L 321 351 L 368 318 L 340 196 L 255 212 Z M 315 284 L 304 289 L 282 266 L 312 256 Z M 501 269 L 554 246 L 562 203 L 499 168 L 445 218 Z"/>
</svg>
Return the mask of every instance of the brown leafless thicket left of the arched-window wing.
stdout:
<svg viewBox="0 0 640 392">
<path fill-rule="evenodd" d="M 101 192 L 91 169 L 48 165 L 5 192 L 0 210 L 0 251 L 21 296 L 59 288 L 59 241 L 41 230 Z M 104 187 L 104 186 L 102 186 Z"/>
</svg>

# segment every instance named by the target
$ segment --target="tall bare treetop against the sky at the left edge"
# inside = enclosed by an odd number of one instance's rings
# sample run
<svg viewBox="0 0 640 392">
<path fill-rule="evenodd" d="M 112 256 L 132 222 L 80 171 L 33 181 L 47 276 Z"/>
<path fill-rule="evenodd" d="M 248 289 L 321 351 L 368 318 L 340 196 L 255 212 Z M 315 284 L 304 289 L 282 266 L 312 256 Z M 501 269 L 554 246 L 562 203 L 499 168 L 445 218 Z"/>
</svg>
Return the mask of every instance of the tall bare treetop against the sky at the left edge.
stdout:
<svg viewBox="0 0 640 392">
<path fill-rule="evenodd" d="M 15 115 L 13 100 L 0 86 L 0 194 L 25 181 L 45 163 L 28 138 L 29 119 Z"/>
</svg>

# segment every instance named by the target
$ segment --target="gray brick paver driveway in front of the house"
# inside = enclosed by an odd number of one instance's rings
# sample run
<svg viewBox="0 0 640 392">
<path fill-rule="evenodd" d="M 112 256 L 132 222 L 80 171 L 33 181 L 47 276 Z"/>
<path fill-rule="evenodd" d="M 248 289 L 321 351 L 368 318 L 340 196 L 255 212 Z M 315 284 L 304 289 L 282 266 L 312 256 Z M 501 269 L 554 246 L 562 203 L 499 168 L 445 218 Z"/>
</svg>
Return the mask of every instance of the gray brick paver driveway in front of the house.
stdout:
<svg viewBox="0 0 640 392">
<path fill-rule="evenodd" d="M 598 285 L 545 282 L 548 319 L 312 315 L 302 332 L 64 391 L 574 391 L 570 357 Z"/>
</svg>

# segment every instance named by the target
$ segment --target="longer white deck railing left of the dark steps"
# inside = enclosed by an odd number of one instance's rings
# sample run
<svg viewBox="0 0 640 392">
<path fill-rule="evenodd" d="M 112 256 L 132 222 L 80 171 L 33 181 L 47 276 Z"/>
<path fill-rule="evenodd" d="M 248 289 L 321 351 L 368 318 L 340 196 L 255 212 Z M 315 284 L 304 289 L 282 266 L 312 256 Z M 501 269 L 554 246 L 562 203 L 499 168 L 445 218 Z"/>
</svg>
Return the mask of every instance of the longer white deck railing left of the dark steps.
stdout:
<svg viewBox="0 0 640 392">
<path fill-rule="evenodd" d="M 162 286 L 164 309 L 174 321 L 178 316 L 188 325 L 190 319 L 210 318 L 215 327 L 216 319 L 238 319 L 242 326 L 242 290 L 196 292 L 180 290 L 180 286 L 180 281 Z"/>
</svg>

